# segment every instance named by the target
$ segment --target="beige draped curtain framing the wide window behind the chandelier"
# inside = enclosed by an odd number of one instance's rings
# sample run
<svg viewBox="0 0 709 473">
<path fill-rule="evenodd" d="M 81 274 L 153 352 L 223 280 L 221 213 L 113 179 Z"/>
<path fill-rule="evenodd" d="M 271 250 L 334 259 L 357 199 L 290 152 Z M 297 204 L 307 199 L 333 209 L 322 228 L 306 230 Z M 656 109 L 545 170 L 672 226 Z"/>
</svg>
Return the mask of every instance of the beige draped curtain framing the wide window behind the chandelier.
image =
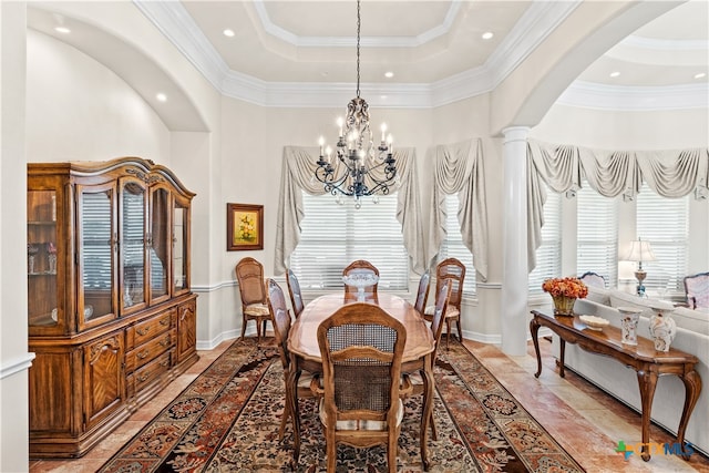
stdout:
<svg viewBox="0 0 709 473">
<path fill-rule="evenodd" d="M 300 241 L 300 222 L 304 217 L 301 191 L 311 195 L 322 195 L 322 183 L 314 178 L 318 167 L 317 147 L 284 147 L 284 163 L 280 177 L 280 198 L 276 227 L 276 274 L 288 268 L 290 255 Z M 398 192 L 397 219 L 401 224 L 403 241 L 409 253 L 411 267 L 423 271 L 424 245 L 421 239 L 421 204 L 417 192 L 417 166 L 413 148 L 399 147 L 394 151 L 397 160 L 397 184 L 390 192 Z M 345 167 L 335 160 L 336 175 Z"/>
</svg>

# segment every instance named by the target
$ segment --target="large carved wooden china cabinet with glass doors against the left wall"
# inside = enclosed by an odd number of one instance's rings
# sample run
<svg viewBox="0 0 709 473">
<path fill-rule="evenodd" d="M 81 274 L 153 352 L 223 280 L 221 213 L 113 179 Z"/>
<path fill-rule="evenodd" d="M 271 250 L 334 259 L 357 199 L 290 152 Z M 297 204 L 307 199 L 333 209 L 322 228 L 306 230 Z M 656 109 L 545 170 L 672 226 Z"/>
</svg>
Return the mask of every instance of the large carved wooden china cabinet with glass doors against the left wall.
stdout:
<svg viewBox="0 0 709 473">
<path fill-rule="evenodd" d="M 195 194 L 140 157 L 28 164 L 30 456 L 81 456 L 197 361 Z"/>
</svg>

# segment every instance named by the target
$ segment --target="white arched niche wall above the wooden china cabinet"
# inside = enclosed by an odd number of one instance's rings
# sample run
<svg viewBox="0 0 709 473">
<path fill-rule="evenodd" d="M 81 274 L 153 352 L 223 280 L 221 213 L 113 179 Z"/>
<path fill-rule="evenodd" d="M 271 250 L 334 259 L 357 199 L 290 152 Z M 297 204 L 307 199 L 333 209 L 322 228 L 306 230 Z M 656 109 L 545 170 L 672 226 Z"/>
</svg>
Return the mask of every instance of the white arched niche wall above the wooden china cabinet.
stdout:
<svg viewBox="0 0 709 473">
<path fill-rule="evenodd" d="M 73 47 L 27 31 L 29 162 L 141 156 L 169 166 L 169 132 L 125 81 Z"/>
</svg>

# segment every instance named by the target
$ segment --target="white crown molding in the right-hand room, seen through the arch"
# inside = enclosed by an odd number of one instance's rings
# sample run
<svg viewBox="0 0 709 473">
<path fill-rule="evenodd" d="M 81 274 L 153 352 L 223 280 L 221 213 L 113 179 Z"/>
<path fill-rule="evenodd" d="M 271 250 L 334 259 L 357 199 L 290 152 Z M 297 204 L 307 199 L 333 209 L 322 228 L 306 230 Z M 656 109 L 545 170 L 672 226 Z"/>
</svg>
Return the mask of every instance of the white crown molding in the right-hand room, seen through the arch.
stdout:
<svg viewBox="0 0 709 473">
<path fill-rule="evenodd" d="M 559 105 L 608 111 L 709 109 L 707 84 L 624 86 L 574 82 L 556 101 Z"/>
</svg>

